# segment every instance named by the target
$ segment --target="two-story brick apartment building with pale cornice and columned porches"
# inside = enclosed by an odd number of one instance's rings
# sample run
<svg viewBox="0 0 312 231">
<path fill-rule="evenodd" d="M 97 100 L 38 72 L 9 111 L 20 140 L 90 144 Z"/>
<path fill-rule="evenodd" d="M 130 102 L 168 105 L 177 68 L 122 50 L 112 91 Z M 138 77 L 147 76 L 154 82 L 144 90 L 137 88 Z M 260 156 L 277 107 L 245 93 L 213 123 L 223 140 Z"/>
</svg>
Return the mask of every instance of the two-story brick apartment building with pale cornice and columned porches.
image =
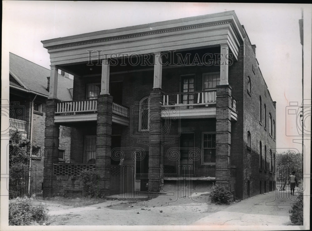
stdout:
<svg viewBox="0 0 312 231">
<path fill-rule="evenodd" d="M 99 173 L 106 195 L 157 194 L 179 180 L 238 198 L 275 190 L 275 102 L 234 11 L 42 43 L 51 57 L 43 196 L 81 193 L 82 169 Z M 58 69 L 74 75 L 74 101 L 60 102 Z M 75 163 L 51 155 L 59 125 L 72 128 Z"/>
</svg>

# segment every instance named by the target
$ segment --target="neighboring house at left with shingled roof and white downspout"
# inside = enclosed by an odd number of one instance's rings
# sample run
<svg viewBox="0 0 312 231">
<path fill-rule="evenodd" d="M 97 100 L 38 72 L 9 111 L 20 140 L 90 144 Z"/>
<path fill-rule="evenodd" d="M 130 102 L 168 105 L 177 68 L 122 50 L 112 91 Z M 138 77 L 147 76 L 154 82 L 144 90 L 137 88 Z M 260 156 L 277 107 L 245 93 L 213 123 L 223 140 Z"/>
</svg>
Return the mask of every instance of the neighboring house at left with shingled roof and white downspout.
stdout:
<svg viewBox="0 0 312 231">
<path fill-rule="evenodd" d="M 46 99 L 50 70 L 10 53 L 10 129 L 19 130 L 32 141 L 32 192 L 41 193 L 45 151 Z M 57 75 L 57 93 L 63 101 L 72 100 L 73 80 L 67 73 Z M 32 113 L 33 107 L 33 113 Z M 57 162 L 70 162 L 71 129 L 60 127 Z"/>
</svg>

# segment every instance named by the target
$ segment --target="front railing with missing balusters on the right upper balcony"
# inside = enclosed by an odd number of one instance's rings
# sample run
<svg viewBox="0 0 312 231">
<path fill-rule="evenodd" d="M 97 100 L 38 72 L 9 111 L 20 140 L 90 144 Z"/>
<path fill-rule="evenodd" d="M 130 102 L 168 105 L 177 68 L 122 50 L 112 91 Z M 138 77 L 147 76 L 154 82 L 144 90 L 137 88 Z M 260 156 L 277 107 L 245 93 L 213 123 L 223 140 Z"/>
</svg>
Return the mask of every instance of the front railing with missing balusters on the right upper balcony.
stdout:
<svg viewBox="0 0 312 231">
<path fill-rule="evenodd" d="M 163 96 L 163 107 L 205 106 L 215 104 L 216 98 L 216 90 L 166 94 Z"/>
</svg>

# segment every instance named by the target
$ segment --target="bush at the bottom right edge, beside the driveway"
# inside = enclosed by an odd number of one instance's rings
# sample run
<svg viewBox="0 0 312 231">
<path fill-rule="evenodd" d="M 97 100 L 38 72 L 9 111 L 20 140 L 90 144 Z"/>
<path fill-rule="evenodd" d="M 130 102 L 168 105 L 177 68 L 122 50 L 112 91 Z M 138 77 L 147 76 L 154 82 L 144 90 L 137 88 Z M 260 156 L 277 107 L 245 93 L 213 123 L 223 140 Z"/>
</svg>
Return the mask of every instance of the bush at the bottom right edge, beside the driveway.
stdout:
<svg viewBox="0 0 312 231">
<path fill-rule="evenodd" d="M 293 225 L 303 225 L 303 188 L 301 185 L 297 191 L 299 191 L 299 195 L 289 210 L 289 219 Z"/>
</svg>

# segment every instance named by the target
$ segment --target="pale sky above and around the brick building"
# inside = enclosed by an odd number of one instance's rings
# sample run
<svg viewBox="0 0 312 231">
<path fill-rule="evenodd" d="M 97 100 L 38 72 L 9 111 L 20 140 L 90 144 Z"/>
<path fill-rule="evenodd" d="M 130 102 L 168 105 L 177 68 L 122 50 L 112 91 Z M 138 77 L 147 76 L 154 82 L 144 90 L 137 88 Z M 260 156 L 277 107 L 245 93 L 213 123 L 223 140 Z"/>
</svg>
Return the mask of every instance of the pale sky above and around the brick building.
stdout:
<svg viewBox="0 0 312 231">
<path fill-rule="evenodd" d="M 280 151 L 290 148 L 301 151 L 301 144 L 293 142 L 293 139 L 301 139 L 296 129 L 296 119 L 287 114 L 286 109 L 290 102 L 298 102 L 299 106 L 292 107 L 300 109 L 302 102 L 302 46 L 298 22 L 301 19 L 301 8 L 304 10 L 305 22 L 304 92 L 306 99 L 311 98 L 311 6 L 260 3 L 2 1 L 2 76 L 8 76 L 5 73 L 8 62 L 5 60 L 9 52 L 50 69 L 49 54 L 43 48 L 42 40 L 235 10 L 251 44 L 256 44 L 259 68 L 273 101 L 276 101 L 276 147 Z M 8 84 L 6 80 L 2 78 L 2 85 Z M 310 117 L 311 114 L 307 116 Z M 286 131 L 291 136 L 286 136 Z"/>
</svg>

